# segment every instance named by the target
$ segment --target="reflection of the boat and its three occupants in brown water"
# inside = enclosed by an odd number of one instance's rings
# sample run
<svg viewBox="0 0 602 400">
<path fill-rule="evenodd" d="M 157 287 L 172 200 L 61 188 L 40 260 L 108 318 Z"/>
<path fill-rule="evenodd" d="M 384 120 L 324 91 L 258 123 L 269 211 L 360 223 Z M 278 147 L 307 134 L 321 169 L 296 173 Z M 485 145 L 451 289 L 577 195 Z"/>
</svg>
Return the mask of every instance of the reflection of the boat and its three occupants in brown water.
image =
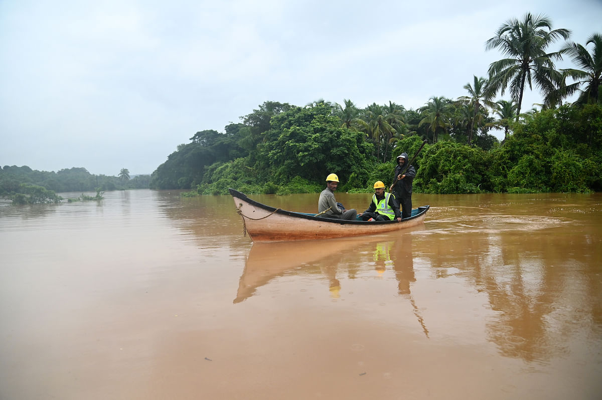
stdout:
<svg viewBox="0 0 602 400">
<path fill-rule="evenodd" d="M 394 271 L 397 294 L 407 297 L 414 314 L 428 337 L 429 332 L 415 304 L 411 284 L 415 282 L 412 256 L 412 231 L 386 233 L 367 238 L 338 238 L 293 242 L 254 242 L 238 283 L 234 303 L 255 295 L 258 288 L 285 275 L 320 275 L 328 280 L 329 294 L 340 298 L 339 276 L 355 279 L 382 276 L 386 269 Z M 376 274 L 366 274 L 368 271 Z"/>
</svg>

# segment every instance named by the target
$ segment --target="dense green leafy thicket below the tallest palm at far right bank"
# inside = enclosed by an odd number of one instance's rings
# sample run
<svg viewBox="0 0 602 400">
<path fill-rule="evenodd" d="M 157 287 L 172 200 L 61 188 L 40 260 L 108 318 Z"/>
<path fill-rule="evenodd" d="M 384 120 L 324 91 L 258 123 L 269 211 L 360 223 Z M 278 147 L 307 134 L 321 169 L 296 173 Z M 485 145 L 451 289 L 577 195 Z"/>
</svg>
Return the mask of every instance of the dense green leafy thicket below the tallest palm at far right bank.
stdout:
<svg viewBox="0 0 602 400">
<path fill-rule="evenodd" d="M 491 153 L 492 190 L 582 192 L 602 188 L 602 107 L 561 106 L 514 125 Z"/>
</svg>

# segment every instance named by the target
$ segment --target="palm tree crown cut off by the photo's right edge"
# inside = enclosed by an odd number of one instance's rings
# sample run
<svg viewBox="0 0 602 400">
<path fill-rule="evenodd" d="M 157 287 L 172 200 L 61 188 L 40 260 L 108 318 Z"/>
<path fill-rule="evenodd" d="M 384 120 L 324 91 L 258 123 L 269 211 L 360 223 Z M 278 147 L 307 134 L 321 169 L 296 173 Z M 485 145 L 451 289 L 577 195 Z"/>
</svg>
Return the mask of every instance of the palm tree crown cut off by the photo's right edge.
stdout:
<svg viewBox="0 0 602 400">
<path fill-rule="evenodd" d="M 577 66 L 581 69 L 563 69 L 565 76 L 570 76 L 576 82 L 568 85 L 567 91 L 573 94 L 575 91 L 581 91 L 581 95 L 575 103 L 586 104 L 588 102 L 597 103 L 600 100 L 600 91 L 602 90 L 602 35 L 595 33 L 588 38 L 586 46 L 594 44 L 592 53 L 577 43 L 568 43 L 561 51 L 568 54 Z M 585 85 L 585 90 L 580 89 Z"/>
</svg>

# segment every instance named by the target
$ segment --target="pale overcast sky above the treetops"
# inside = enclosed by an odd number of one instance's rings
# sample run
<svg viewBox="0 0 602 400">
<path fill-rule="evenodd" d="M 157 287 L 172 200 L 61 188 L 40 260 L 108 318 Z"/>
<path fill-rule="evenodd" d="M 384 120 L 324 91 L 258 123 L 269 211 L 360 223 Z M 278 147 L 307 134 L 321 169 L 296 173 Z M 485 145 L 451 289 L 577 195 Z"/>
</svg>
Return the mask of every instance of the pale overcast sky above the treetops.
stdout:
<svg viewBox="0 0 602 400">
<path fill-rule="evenodd" d="M 0 165 L 152 173 L 267 100 L 455 99 L 527 11 L 602 32 L 602 0 L 0 0 Z"/>
</svg>

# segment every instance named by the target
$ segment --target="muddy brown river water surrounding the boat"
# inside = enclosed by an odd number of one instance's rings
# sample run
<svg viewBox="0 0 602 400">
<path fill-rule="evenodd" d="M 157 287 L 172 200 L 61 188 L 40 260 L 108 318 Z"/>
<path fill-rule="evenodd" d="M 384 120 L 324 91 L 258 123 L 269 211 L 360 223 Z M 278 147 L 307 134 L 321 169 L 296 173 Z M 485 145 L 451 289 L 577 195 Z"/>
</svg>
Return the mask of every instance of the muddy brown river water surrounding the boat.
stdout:
<svg viewBox="0 0 602 400">
<path fill-rule="evenodd" d="M 426 204 L 401 233 L 253 244 L 229 196 L 2 203 L 0 398 L 600 399 L 602 195 Z"/>
</svg>

